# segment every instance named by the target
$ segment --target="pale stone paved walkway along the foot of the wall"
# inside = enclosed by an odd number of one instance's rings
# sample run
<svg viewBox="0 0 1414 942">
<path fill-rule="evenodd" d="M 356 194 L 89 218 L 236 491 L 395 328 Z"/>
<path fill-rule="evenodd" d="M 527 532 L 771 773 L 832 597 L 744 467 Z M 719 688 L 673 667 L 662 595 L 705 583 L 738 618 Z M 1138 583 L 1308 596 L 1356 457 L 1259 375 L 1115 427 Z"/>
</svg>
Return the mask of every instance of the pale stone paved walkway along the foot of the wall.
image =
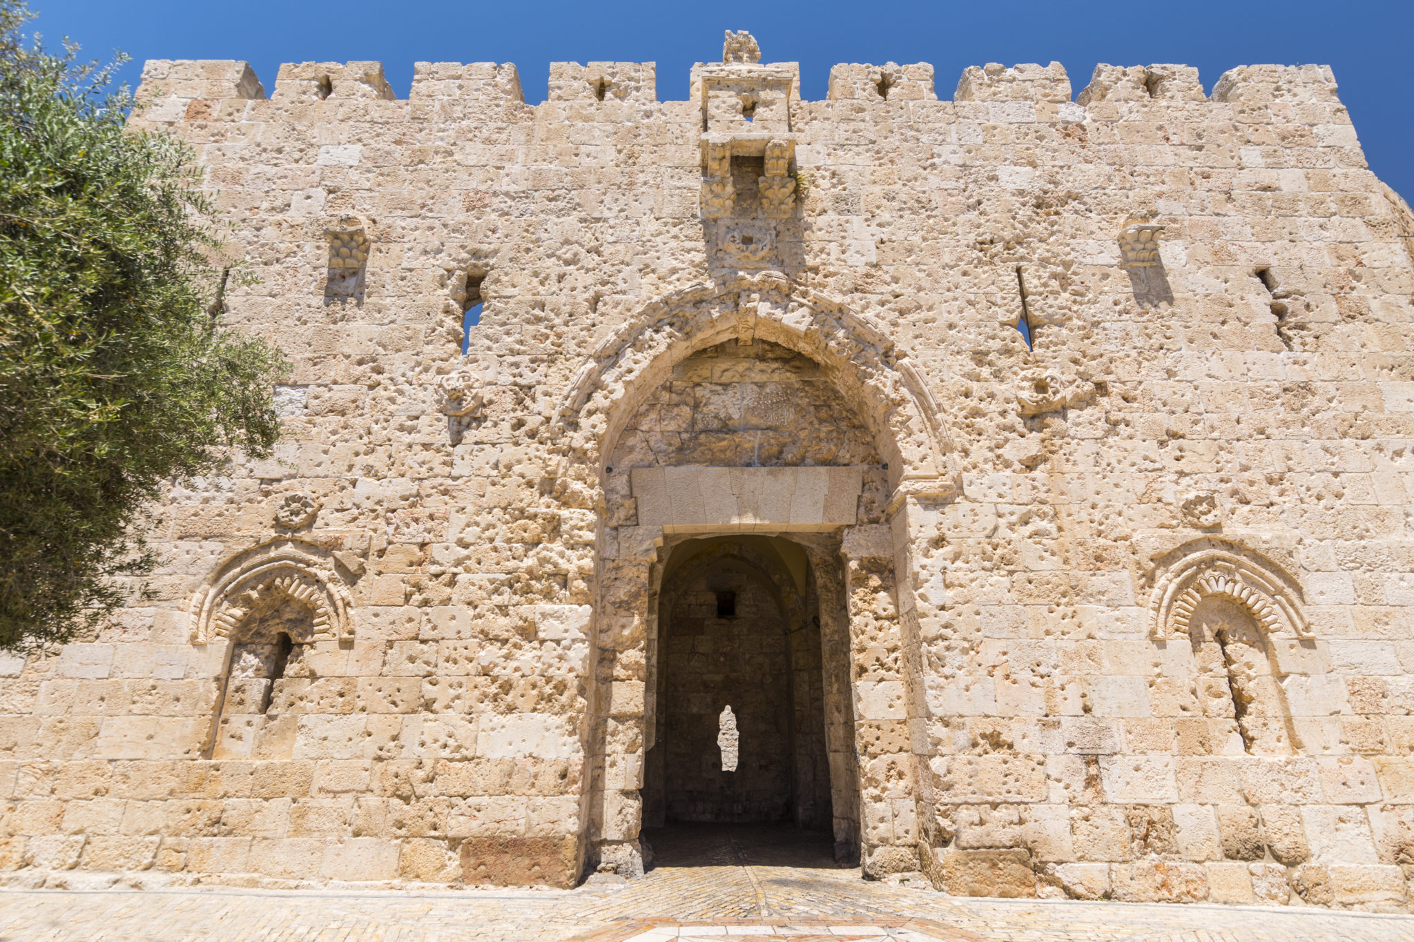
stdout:
<svg viewBox="0 0 1414 942">
<path fill-rule="evenodd" d="M 1003 901 L 865 883 L 761 828 L 674 832 L 632 883 L 577 890 L 4 890 L 0 942 L 1414 942 L 1414 917 L 1220 905 Z"/>
</svg>

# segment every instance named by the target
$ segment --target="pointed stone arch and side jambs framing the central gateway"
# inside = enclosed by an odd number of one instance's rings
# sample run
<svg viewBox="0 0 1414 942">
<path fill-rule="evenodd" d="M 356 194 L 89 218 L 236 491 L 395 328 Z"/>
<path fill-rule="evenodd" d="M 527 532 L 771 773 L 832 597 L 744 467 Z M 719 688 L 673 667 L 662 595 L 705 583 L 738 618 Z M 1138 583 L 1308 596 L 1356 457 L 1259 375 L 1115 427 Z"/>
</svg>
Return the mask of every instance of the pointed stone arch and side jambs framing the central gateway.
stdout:
<svg viewBox="0 0 1414 942">
<path fill-rule="evenodd" d="M 836 822 L 836 850 L 863 859 L 872 876 L 915 870 L 918 847 L 912 822 L 919 771 L 912 749 L 926 739 L 928 716 L 921 693 L 922 658 L 916 652 L 921 627 L 913 586 L 925 580 L 921 548 L 935 534 L 936 506 L 960 493 L 954 448 L 928 384 L 887 329 L 843 301 L 778 271 L 696 282 L 641 308 L 591 352 L 542 431 L 542 442 L 559 460 L 554 497 L 566 508 L 602 511 L 597 549 L 585 559 L 595 580 L 591 662 L 598 665 L 600 676 L 590 685 L 583 739 L 594 770 L 584 812 L 584 849 L 600 870 L 642 873 L 642 750 L 652 727 L 639 678 L 649 662 L 645 628 L 653 621 L 645 604 L 655 593 L 652 580 L 660 575 L 653 566 L 662 559 L 665 535 L 689 525 L 691 532 L 788 534 L 813 532 L 823 524 L 796 518 L 793 490 L 790 514 L 775 506 L 766 513 L 768 508 L 752 504 L 751 513 L 728 514 L 730 520 L 707 530 L 672 501 L 673 510 L 666 517 L 649 520 L 639 515 L 645 504 L 629 510 L 607 503 L 609 476 L 629 473 L 608 465 L 619 463 L 611 462 L 614 448 L 636 411 L 680 363 L 732 339 L 741 345 L 772 343 L 812 360 L 820 377 L 834 387 L 840 404 L 854 412 L 872 438 L 871 458 L 878 465 L 871 462 L 868 473 L 884 476 L 885 499 L 871 504 L 868 518 L 853 513 L 846 514 L 847 520 L 830 518 L 829 528 L 841 532 L 831 535 L 830 555 L 837 558 L 840 573 L 830 589 L 839 613 L 831 616 L 829 637 L 843 652 L 841 693 L 863 703 L 855 720 L 896 727 L 896 733 L 864 741 L 853 722 L 839 725 L 840 749 L 863 757 L 848 765 L 848 774 L 858 780 L 851 794 L 863 797 L 867 784 L 874 788 L 871 782 L 887 780 L 899 797 L 871 805 L 870 813 L 892 822 L 887 828 L 865 832 L 860 826 L 863 806 L 858 818 L 850 819 L 853 823 Z M 693 489 L 707 493 L 704 489 L 711 490 L 717 480 L 713 475 L 720 477 L 725 469 L 689 465 L 677 470 L 690 479 L 680 482 L 683 493 Z M 775 483 L 783 489 L 783 479 L 799 469 L 751 470 L 782 477 Z M 638 493 L 636 484 L 632 490 Z M 745 491 L 732 493 L 740 497 Z M 850 508 L 854 507 L 851 501 Z M 740 500 L 737 510 L 741 511 Z M 891 668 L 888 676 L 855 671 L 850 660 L 854 633 L 868 633 L 889 651 L 899 651 L 898 669 Z M 895 689 L 905 693 L 904 710 L 889 699 Z M 831 761 L 834 746 L 831 740 Z M 870 794 L 882 792 L 874 788 Z"/>
</svg>

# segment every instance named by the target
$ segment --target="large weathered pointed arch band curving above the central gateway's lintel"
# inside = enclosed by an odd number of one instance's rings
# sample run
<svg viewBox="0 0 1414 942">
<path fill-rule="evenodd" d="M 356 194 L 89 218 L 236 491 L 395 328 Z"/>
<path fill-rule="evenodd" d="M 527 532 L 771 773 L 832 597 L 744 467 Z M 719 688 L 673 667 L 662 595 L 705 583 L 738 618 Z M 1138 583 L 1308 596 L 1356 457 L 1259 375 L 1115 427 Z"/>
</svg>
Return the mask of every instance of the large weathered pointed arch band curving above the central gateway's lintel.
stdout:
<svg viewBox="0 0 1414 942">
<path fill-rule="evenodd" d="M 694 282 L 645 305 L 590 353 L 551 431 L 574 460 L 602 460 L 673 366 L 731 338 L 771 340 L 817 362 L 870 427 L 895 484 L 954 489 L 952 441 L 906 352 L 872 318 L 776 271 Z"/>
</svg>

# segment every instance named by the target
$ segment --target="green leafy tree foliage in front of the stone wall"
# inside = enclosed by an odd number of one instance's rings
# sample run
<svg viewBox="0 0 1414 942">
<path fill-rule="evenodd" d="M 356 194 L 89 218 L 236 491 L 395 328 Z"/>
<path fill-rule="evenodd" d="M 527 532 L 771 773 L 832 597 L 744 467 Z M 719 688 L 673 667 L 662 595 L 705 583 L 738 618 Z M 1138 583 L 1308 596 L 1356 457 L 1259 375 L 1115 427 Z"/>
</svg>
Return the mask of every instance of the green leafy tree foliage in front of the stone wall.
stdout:
<svg viewBox="0 0 1414 942">
<path fill-rule="evenodd" d="M 0 0 L 0 647 L 52 647 L 151 571 L 147 508 L 264 456 L 284 360 L 221 323 L 192 153 L 130 133 L 113 68 Z M 215 301 L 212 301 L 215 298 Z"/>
</svg>

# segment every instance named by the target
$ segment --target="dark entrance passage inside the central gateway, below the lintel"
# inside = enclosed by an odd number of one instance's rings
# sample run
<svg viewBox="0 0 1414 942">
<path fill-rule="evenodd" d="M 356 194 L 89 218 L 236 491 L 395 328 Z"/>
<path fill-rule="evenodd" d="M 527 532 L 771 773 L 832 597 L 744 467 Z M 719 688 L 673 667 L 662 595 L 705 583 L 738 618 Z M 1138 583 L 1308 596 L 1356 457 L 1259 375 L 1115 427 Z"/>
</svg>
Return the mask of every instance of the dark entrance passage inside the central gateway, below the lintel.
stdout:
<svg viewBox="0 0 1414 942">
<path fill-rule="evenodd" d="M 658 733 L 643 788 L 643 823 L 670 828 L 659 840 L 701 833 L 676 825 L 772 823 L 819 832 L 829 846 L 819 609 L 793 542 L 720 537 L 674 548 L 659 593 Z"/>
</svg>

